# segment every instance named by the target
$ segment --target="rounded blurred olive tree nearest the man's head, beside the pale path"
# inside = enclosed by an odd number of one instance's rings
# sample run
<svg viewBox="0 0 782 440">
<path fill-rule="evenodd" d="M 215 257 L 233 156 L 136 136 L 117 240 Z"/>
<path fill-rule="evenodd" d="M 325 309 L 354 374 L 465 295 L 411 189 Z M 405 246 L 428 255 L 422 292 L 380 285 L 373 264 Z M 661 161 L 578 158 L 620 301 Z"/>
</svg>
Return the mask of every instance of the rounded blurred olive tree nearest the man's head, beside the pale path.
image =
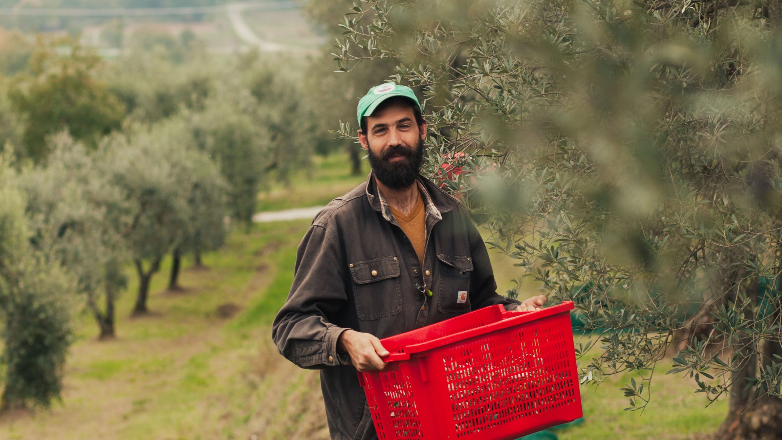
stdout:
<svg viewBox="0 0 782 440">
<path fill-rule="evenodd" d="M 203 110 L 183 114 L 199 148 L 217 160 L 231 186 L 233 217 L 248 226 L 270 172 L 287 182 L 292 171 L 309 166 L 310 155 L 328 136 L 317 132 L 320 115 L 296 81 L 296 63 L 240 56 L 213 74 L 223 80 L 213 83 Z"/>
</svg>

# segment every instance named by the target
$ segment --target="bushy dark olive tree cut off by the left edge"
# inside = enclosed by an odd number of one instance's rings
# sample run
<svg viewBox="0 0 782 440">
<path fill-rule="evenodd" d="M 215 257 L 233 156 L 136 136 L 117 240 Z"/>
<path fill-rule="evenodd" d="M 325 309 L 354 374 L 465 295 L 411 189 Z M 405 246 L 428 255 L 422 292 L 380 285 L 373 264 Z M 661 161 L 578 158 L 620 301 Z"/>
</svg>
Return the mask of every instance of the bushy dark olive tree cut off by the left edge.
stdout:
<svg viewBox="0 0 782 440">
<path fill-rule="evenodd" d="M 55 258 L 30 247 L 25 201 L 7 155 L 0 157 L 0 409 L 48 407 L 63 389 L 70 344 L 72 280 Z"/>
</svg>

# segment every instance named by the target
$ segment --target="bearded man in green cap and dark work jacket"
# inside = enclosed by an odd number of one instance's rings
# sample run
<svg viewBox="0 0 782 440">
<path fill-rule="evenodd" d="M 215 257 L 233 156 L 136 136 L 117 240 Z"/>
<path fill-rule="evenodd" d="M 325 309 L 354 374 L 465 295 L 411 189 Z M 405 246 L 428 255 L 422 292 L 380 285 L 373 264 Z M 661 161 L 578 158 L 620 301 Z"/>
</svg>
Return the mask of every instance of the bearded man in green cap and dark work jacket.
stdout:
<svg viewBox="0 0 782 440">
<path fill-rule="evenodd" d="M 356 371 L 382 370 L 380 338 L 489 305 L 534 310 L 497 294 L 467 209 L 419 174 L 426 122 L 411 88 L 386 83 L 358 103 L 372 171 L 312 222 L 272 338 L 285 358 L 321 370 L 333 440 L 375 439 Z"/>
</svg>

